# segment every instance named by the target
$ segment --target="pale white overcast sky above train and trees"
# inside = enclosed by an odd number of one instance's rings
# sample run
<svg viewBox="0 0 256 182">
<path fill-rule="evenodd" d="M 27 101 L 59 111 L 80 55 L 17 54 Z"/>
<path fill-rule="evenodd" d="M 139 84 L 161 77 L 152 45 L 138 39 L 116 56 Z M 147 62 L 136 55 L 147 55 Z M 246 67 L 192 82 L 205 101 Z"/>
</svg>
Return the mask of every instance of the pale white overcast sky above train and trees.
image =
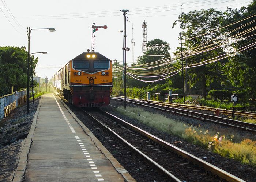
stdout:
<svg viewBox="0 0 256 182">
<path fill-rule="evenodd" d="M 124 16 L 127 13 L 127 63 L 132 64 L 132 27 L 134 61 L 142 55 L 143 29 L 147 22 L 147 41 L 162 39 L 170 45 L 170 53 L 179 46 L 179 25 L 172 29 L 173 22 L 183 11 L 215 8 L 226 11 L 227 7 L 240 8 L 247 6 L 248 0 L 1 0 L 0 1 L 0 47 L 25 46 L 28 48 L 27 27 L 55 28 L 32 30 L 30 53 L 38 57 L 35 70 L 42 78 L 52 78 L 62 66 L 82 52 L 91 50 L 91 26 L 107 25 L 107 29 L 95 32 L 95 52 L 110 60 L 123 64 Z"/>
</svg>

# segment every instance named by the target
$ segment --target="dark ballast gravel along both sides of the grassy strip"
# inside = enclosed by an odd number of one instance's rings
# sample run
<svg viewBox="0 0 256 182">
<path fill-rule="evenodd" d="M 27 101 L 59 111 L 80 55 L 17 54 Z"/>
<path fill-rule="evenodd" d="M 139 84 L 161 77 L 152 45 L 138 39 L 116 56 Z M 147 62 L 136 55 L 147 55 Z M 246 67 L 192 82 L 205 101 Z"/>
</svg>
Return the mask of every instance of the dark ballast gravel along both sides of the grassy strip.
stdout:
<svg viewBox="0 0 256 182">
<path fill-rule="evenodd" d="M 119 102 L 119 101 L 111 100 L 111 105 L 123 106 L 123 103 Z M 127 106 L 134 107 L 132 104 L 127 104 Z M 214 123 L 203 123 L 198 120 L 191 119 L 191 118 L 185 118 L 185 117 L 181 117 L 181 116 L 166 114 L 165 112 L 159 112 L 157 110 L 154 110 L 153 108 L 148 108 L 148 107 L 140 107 L 140 108 L 142 108 L 145 111 L 151 112 L 151 113 L 163 114 L 163 115 L 167 116 L 168 118 L 181 120 L 185 123 L 193 124 L 194 126 L 198 126 L 200 124 L 202 127 L 204 127 L 204 128 L 208 127 L 209 129 L 212 127 L 216 127 L 216 128 L 223 127 L 223 126 L 217 126 L 217 124 L 214 124 Z M 163 139 L 166 142 L 173 144 L 174 146 L 181 148 L 182 150 L 187 151 L 190 154 L 195 155 L 196 157 L 199 157 L 200 159 L 203 159 L 204 161 L 211 163 L 212 165 L 215 165 L 215 166 L 245 180 L 245 181 L 253 182 L 256 179 L 256 168 L 254 168 L 252 166 L 244 165 L 238 161 L 222 157 L 218 154 L 212 153 L 211 151 L 209 151 L 207 149 L 203 149 L 199 146 L 188 143 L 187 141 L 184 141 L 184 139 L 167 134 L 166 132 L 159 131 L 155 128 L 146 126 L 145 124 L 143 124 L 133 118 L 129 118 L 127 116 L 120 114 L 119 112 L 115 111 L 114 107 L 112 107 L 112 106 L 102 107 L 102 109 L 109 112 L 110 114 L 117 116 L 118 118 L 121 118 L 121 119 L 141 128 L 142 130 L 145 130 L 145 131 Z M 227 129 L 229 129 L 229 128 L 227 128 Z M 240 132 L 242 135 L 243 131 L 240 131 Z M 254 139 L 255 139 L 254 134 L 249 133 L 248 135 L 245 135 L 244 137 L 248 137 L 248 136 L 252 137 L 252 138 L 254 137 Z"/>
</svg>

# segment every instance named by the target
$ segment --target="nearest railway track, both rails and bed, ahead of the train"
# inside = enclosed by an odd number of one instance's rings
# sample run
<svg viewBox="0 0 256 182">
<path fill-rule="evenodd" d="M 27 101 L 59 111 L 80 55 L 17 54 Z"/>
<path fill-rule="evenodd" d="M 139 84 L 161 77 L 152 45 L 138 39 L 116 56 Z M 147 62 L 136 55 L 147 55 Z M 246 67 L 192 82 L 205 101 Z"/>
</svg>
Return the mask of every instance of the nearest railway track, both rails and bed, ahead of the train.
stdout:
<svg viewBox="0 0 256 182">
<path fill-rule="evenodd" d="M 105 111 L 84 111 L 167 181 L 243 181 Z M 168 159 L 168 160 L 166 160 Z M 207 172 L 207 171 L 210 171 Z"/>
</svg>

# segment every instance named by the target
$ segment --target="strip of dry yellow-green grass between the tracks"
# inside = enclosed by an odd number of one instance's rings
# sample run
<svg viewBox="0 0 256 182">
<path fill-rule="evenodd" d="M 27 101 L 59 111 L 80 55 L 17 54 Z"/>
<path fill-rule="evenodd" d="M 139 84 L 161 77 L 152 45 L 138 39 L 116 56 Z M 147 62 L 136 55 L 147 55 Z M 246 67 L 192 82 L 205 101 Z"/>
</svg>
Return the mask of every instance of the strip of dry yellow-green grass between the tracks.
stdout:
<svg viewBox="0 0 256 182">
<path fill-rule="evenodd" d="M 218 132 L 205 130 L 200 125 L 192 126 L 159 114 L 146 112 L 138 107 L 127 107 L 127 110 L 117 108 L 117 111 L 147 126 L 165 131 L 205 149 L 208 147 L 208 142 L 213 141 Z M 214 153 L 256 167 L 256 141 L 241 139 L 239 135 L 234 135 L 229 131 L 220 132 L 219 137 L 222 137 L 222 141 L 214 143 L 212 147 Z"/>
</svg>

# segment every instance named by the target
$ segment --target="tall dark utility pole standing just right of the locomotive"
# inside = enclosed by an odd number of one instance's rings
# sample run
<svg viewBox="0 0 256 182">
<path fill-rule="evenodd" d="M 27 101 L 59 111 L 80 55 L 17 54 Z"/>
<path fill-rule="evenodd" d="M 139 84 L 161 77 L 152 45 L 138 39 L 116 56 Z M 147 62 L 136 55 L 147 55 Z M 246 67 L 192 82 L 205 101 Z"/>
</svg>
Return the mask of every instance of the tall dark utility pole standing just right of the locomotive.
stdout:
<svg viewBox="0 0 256 182">
<path fill-rule="evenodd" d="M 127 16 L 126 13 L 129 12 L 128 9 L 123 9 L 120 10 L 123 12 L 124 15 L 124 108 L 126 109 L 126 51 L 129 51 L 130 49 L 126 47 L 126 21 L 127 21 Z"/>
</svg>

